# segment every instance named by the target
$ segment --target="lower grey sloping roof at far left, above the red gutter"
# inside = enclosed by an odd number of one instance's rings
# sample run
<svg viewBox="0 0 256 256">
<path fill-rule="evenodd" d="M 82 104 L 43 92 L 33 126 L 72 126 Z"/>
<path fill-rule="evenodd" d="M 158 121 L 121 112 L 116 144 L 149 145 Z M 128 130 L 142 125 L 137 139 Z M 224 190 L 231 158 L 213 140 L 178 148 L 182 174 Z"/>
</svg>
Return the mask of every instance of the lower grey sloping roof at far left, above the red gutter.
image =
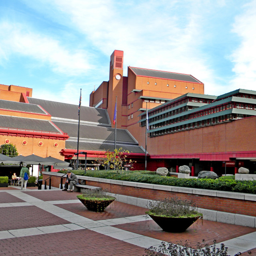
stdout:
<svg viewBox="0 0 256 256">
<path fill-rule="evenodd" d="M 60 131 L 57 130 L 57 128 L 48 120 L 38 120 L 16 116 L 0 115 L 0 128 L 60 133 Z"/>
</svg>

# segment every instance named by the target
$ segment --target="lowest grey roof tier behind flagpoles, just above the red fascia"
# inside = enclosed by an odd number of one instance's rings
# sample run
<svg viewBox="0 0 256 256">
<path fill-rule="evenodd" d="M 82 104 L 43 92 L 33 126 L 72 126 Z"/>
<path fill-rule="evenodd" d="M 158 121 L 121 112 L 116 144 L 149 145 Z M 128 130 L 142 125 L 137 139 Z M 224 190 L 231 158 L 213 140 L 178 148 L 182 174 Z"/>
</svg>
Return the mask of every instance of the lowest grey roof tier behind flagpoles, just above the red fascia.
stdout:
<svg viewBox="0 0 256 256">
<path fill-rule="evenodd" d="M 77 142 L 66 140 L 66 148 L 77 149 Z M 116 148 L 122 148 L 122 150 L 128 150 L 129 152 L 132 152 L 132 153 L 145 153 L 140 146 L 116 144 Z M 114 151 L 114 144 L 79 142 L 79 149 L 80 150 Z"/>
</svg>

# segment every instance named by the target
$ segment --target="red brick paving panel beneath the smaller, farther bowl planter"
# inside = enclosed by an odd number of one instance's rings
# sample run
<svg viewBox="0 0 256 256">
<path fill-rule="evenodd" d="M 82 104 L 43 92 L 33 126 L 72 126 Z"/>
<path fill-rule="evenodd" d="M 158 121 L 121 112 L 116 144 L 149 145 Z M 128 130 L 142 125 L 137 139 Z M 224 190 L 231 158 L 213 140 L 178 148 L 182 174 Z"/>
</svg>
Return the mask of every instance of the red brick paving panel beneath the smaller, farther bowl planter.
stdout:
<svg viewBox="0 0 256 256">
<path fill-rule="evenodd" d="M 125 204 L 117 201 L 112 202 L 105 209 L 104 212 L 89 211 L 82 203 L 56 204 L 56 206 L 61 207 L 70 212 L 79 214 L 91 220 L 109 220 L 129 216 L 145 215 L 145 212 L 147 210 L 146 208 Z"/>
</svg>

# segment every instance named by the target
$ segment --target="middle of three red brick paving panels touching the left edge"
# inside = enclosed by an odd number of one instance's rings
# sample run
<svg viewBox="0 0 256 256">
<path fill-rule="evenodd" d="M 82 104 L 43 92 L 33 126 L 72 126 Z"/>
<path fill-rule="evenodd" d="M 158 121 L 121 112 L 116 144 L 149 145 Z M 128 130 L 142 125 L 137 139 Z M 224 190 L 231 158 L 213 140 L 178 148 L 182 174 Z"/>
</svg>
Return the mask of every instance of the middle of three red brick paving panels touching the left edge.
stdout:
<svg viewBox="0 0 256 256">
<path fill-rule="evenodd" d="M 0 231 L 70 223 L 36 206 L 0 207 L 0 216 Z"/>
</svg>

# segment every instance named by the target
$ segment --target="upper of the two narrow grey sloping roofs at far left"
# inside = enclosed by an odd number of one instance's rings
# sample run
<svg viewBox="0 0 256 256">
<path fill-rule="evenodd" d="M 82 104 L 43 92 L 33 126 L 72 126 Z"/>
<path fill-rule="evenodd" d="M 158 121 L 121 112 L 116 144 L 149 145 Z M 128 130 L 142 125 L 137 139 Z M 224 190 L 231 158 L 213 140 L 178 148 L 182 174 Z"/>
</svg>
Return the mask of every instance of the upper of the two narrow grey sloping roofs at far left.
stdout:
<svg viewBox="0 0 256 256">
<path fill-rule="evenodd" d="M 0 100 L 0 108 L 7 110 L 16 110 L 22 112 L 46 114 L 39 106 L 34 104 L 27 104 L 23 102 L 16 102 L 10 100 Z"/>
</svg>

